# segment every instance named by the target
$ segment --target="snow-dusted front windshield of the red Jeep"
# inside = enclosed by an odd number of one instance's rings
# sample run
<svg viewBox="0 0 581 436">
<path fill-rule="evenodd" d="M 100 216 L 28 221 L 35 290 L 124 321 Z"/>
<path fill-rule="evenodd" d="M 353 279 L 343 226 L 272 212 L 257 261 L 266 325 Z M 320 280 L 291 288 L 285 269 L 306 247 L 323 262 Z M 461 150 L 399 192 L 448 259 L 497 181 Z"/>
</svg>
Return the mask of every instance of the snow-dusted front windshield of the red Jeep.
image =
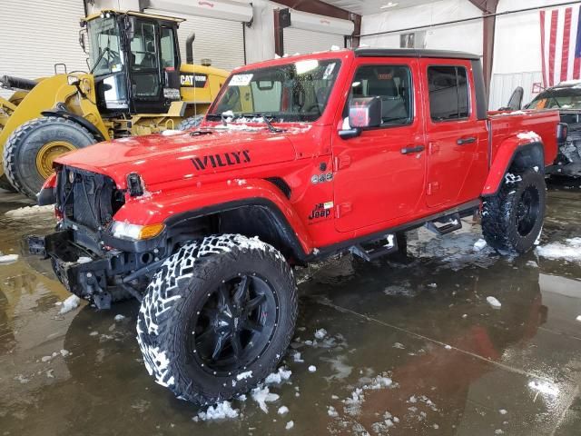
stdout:
<svg viewBox="0 0 581 436">
<path fill-rule="evenodd" d="M 308 59 L 232 74 L 208 119 L 268 117 L 273 122 L 312 122 L 327 106 L 338 59 Z"/>
</svg>

